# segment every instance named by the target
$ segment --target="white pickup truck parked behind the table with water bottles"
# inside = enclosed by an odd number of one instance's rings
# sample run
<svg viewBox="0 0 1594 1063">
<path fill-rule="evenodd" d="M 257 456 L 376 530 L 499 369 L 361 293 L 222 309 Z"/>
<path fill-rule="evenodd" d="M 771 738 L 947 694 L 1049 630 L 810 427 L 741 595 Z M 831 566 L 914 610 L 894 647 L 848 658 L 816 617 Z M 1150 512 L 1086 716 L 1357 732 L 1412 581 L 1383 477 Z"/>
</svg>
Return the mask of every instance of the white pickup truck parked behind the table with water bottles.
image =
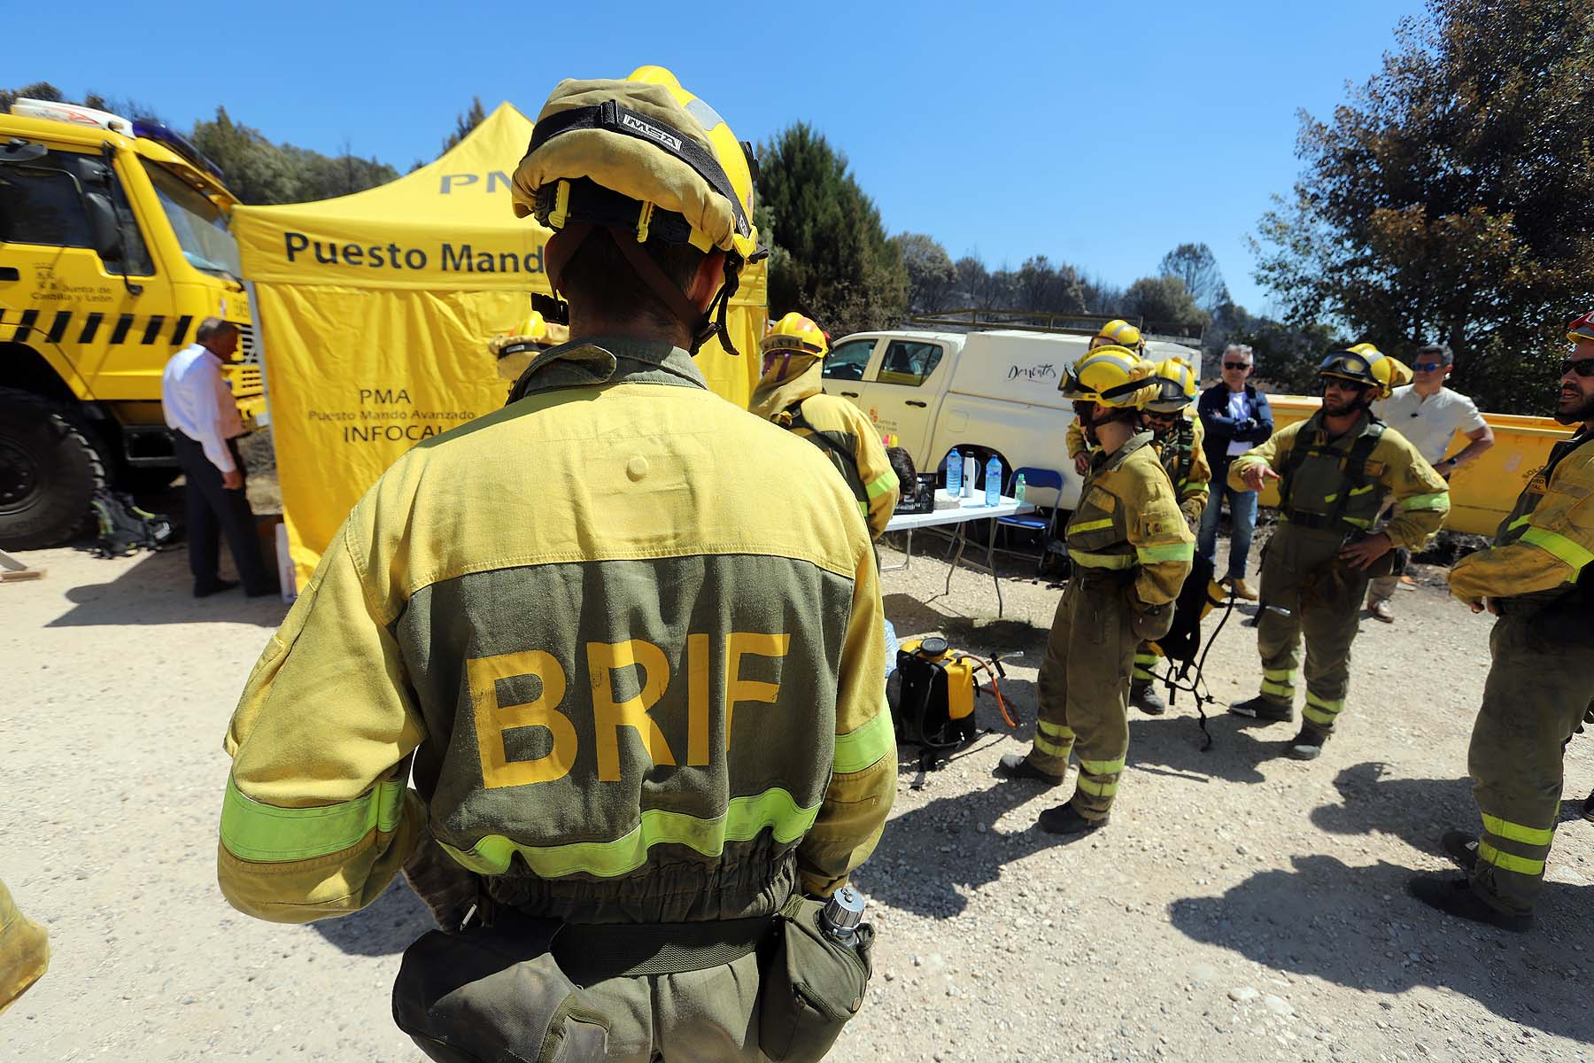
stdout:
<svg viewBox="0 0 1594 1063">
<path fill-rule="evenodd" d="M 1035 491 L 1028 500 L 1071 510 L 1079 477 L 1063 446 L 1073 403 L 1057 390 L 1063 368 L 1084 355 L 1084 335 L 1046 331 L 864 331 L 845 336 L 824 360 L 824 390 L 854 402 L 880 435 L 897 437 L 921 470 L 945 465 L 947 451 L 972 454 L 979 484 L 995 454 L 1003 489 L 1014 469 L 1054 469 L 1062 497 Z M 1146 357 L 1181 355 L 1200 365 L 1200 352 L 1151 341 Z"/>
</svg>

